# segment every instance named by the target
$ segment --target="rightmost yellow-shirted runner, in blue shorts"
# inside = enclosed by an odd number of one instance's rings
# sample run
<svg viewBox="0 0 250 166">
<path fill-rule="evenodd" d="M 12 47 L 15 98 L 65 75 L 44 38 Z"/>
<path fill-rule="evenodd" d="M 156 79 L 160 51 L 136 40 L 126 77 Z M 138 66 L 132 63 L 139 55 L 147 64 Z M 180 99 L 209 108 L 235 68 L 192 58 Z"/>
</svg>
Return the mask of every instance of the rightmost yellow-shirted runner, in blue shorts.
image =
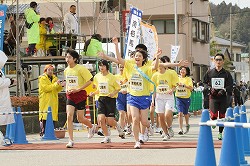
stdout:
<svg viewBox="0 0 250 166">
<path fill-rule="evenodd" d="M 191 91 L 193 90 L 193 81 L 190 77 L 190 69 L 189 67 L 180 67 L 180 77 L 179 77 L 179 83 L 176 88 L 176 107 L 179 112 L 178 114 L 178 121 L 179 121 L 179 135 L 187 134 L 189 132 L 189 114 L 188 109 L 190 106 L 190 96 Z M 183 133 L 183 114 L 186 121 L 186 131 Z"/>
</svg>

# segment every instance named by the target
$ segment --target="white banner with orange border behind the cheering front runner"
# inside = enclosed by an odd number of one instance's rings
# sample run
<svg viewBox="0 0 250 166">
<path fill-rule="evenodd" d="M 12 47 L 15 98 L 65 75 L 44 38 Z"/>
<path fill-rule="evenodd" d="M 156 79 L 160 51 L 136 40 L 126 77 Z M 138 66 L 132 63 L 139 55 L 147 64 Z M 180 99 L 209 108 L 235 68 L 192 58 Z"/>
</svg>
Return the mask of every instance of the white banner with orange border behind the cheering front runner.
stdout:
<svg viewBox="0 0 250 166">
<path fill-rule="evenodd" d="M 158 35 L 154 25 L 141 22 L 142 40 L 148 48 L 148 56 L 150 60 L 154 59 L 154 55 L 158 50 Z"/>
</svg>

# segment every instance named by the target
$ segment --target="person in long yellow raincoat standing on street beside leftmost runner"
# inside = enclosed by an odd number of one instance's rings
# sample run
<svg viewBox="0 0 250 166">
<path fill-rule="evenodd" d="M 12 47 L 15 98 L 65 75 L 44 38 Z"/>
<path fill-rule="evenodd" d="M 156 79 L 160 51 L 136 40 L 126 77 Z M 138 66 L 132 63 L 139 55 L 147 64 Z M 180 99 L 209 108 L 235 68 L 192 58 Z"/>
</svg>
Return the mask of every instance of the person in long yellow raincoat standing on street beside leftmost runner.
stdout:
<svg viewBox="0 0 250 166">
<path fill-rule="evenodd" d="M 53 122 L 58 121 L 58 93 L 66 84 L 65 81 L 58 80 L 53 71 L 53 65 L 48 64 L 44 68 L 44 73 L 38 78 L 39 112 L 45 112 L 39 113 L 39 121 L 42 122 L 40 136 L 45 133 L 48 107 L 51 107 Z"/>
</svg>

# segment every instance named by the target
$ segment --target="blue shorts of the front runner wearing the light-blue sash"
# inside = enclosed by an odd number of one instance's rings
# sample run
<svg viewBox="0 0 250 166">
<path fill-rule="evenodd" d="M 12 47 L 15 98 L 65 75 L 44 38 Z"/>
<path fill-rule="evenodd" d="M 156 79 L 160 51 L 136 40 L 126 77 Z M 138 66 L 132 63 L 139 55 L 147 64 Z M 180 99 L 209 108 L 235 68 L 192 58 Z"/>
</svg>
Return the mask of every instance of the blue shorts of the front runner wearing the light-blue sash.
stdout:
<svg viewBox="0 0 250 166">
<path fill-rule="evenodd" d="M 130 97 L 130 105 L 138 108 L 139 110 L 148 109 L 151 105 L 150 96 L 132 96 Z"/>
</svg>

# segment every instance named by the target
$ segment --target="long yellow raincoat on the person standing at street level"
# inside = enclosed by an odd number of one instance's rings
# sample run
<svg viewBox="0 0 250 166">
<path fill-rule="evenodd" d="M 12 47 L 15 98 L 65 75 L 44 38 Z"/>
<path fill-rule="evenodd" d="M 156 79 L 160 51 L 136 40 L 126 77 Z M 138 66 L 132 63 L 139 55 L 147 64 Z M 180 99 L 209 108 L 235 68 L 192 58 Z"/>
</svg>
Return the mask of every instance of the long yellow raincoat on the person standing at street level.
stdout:
<svg viewBox="0 0 250 166">
<path fill-rule="evenodd" d="M 57 84 L 57 77 L 52 76 L 52 81 L 46 73 L 39 80 L 39 111 L 46 112 L 51 107 L 53 121 L 58 121 L 58 93 L 63 89 Z M 39 120 L 46 120 L 47 113 L 39 113 Z"/>
</svg>

